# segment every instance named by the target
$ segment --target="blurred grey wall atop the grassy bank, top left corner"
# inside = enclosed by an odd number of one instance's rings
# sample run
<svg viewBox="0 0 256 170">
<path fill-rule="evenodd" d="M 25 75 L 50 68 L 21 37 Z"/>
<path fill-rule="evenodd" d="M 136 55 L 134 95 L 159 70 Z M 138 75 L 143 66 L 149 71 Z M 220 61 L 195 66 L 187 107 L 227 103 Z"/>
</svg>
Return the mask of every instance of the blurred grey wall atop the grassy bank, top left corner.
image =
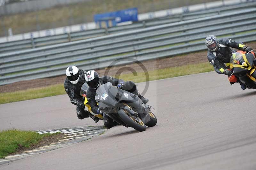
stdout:
<svg viewBox="0 0 256 170">
<path fill-rule="evenodd" d="M 0 6 L 0 16 L 16 14 L 21 12 L 28 11 L 37 11 L 46 8 L 51 8 L 56 5 L 66 5 L 78 2 L 86 2 L 92 0 L 33 0 L 33 1 L 24 1 L 17 2 L 13 4 L 7 4 Z"/>
</svg>

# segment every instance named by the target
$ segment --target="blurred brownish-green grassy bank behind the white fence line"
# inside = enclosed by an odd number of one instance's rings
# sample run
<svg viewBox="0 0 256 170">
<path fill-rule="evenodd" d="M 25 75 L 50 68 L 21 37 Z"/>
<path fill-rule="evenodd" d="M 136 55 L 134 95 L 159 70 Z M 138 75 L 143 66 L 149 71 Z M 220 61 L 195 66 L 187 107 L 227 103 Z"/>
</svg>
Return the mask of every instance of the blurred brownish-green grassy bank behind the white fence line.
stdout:
<svg viewBox="0 0 256 170">
<path fill-rule="evenodd" d="M 210 0 L 92 0 L 84 3 L 56 6 L 50 9 L 14 14 L 2 17 L 5 27 L 0 27 L 0 35 L 12 28 L 14 34 L 35 31 L 36 27 L 50 29 L 93 21 L 93 15 L 137 7 L 139 13 L 171 9 L 188 4 L 211 2 Z"/>
</svg>

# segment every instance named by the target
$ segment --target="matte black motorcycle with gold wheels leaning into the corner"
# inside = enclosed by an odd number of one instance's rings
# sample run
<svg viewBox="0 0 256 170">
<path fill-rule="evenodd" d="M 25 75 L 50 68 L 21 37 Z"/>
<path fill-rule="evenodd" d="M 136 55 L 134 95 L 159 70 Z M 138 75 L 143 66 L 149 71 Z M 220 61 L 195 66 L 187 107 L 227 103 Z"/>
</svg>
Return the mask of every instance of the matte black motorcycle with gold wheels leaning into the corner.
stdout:
<svg viewBox="0 0 256 170">
<path fill-rule="evenodd" d="M 110 82 L 97 89 L 95 99 L 102 113 L 127 128 L 142 132 L 146 130 L 146 125 L 153 127 L 157 123 L 151 106 L 145 105 L 138 96 L 112 86 Z"/>
</svg>

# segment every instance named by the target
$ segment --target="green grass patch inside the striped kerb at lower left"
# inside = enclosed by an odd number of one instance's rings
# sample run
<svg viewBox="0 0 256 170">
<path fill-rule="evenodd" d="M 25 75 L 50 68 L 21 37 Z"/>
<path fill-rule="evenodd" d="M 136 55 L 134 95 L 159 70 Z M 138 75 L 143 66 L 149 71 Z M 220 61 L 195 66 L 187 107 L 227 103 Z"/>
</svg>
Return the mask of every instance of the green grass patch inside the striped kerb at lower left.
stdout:
<svg viewBox="0 0 256 170">
<path fill-rule="evenodd" d="M 15 153 L 19 148 L 29 148 L 33 144 L 39 143 L 45 137 L 55 134 L 39 134 L 34 131 L 6 130 L 0 131 L 0 158 L 5 158 L 11 153 Z"/>
</svg>

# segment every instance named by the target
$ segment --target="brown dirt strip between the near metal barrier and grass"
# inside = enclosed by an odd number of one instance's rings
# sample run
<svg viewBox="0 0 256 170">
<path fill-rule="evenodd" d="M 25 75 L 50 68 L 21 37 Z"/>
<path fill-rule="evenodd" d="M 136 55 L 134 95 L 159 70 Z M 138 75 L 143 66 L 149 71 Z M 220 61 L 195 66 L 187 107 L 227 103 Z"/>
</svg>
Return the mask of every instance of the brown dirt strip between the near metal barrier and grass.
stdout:
<svg viewBox="0 0 256 170">
<path fill-rule="evenodd" d="M 247 43 L 246 45 L 250 46 L 253 49 L 256 49 L 256 43 Z M 203 63 L 207 62 L 207 51 L 200 51 L 196 53 L 186 54 L 186 55 L 180 55 L 170 58 L 162 58 L 162 59 L 156 59 L 156 60 L 150 60 L 142 62 L 142 64 L 147 68 L 147 70 L 155 70 L 155 69 L 161 69 L 161 68 L 167 68 L 167 67 L 175 67 L 175 66 L 183 66 L 188 64 L 196 64 L 196 63 Z M 131 64 L 131 65 L 125 65 L 125 67 L 131 67 L 136 72 L 142 72 L 143 70 L 138 64 Z M 126 69 L 124 66 L 116 66 L 112 67 L 109 71 L 108 75 L 114 76 L 117 72 L 123 72 L 123 73 L 131 73 L 130 71 L 125 71 Z M 100 76 L 104 75 L 105 69 L 97 70 Z M 63 70 L 63 73 L 65 70 Z M 28 80 L 28 81 L 20 81 L 12 84 L 7 84 L 0 86 L 1 93 L 4 92 L 13 92 L 17 90 L 26 90 L 30 88 L 37 88 L 37 87 L 45 87 L 55 84 L 64 83 L 66 76 L 58 76 L 58 77 L 52 77 L 52 78 L 44 78 L 44 79 L 36 79 L 36 80 Z"/>
</svg>

